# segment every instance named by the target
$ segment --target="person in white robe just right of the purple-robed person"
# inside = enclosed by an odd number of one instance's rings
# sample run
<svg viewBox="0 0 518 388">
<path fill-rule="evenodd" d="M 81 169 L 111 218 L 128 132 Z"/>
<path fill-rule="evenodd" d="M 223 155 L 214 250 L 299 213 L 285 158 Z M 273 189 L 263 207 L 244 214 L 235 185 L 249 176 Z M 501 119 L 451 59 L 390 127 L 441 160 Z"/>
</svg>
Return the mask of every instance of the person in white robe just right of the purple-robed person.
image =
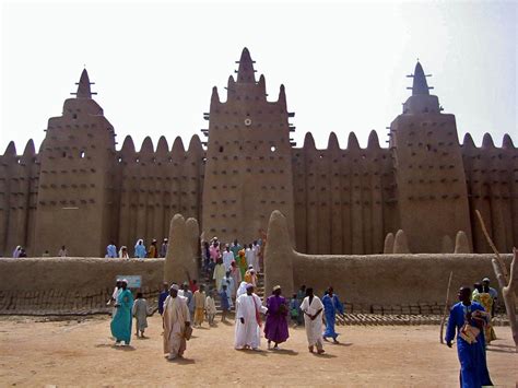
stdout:
<svg viewBox="0 0 518 388">
<path fill-rule="evenodd" d="M 307 344 L 309 352 L 313 353 L 314 346 L 317 346 L 317 353 L 322 354 L 322 315 L 323 304 L 317 295 L 313 294 L 313 289 L 306 290 L 306 297 L 301 304 L 301 310 L 304 313 L 304 324 L 306 326 Z"/>
</svg>

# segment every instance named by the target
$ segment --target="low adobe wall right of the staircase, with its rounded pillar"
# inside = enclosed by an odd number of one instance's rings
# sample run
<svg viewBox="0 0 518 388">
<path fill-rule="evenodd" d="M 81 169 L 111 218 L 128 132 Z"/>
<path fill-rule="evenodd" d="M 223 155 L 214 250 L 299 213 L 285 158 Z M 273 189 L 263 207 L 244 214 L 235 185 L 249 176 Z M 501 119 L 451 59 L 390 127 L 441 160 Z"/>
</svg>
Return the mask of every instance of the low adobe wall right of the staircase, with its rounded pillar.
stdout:
<svg viewBox="0 0 518 388">
<path fill-rule="evenodd" d="M 492 255 L 369 255 L 314 256 L 295 251 L 290 245 L 282 213 L 270 217 L 264 257 L 266 293 L 275 284 L 291 295 L 298 286 L 313 286 L 321 295 L 332 285 L 338 294 L 360 310 L 378 306 L 432 308 L 445 303 L 446 286 L 454 271 L 451 299 L 460 285 L 484 277 L 497 282 L 491 264 Z M 503 255 L 509 264 L 511 255 Z M 518 278 L 518 274 L 515 274 Z M 516 279 L 518 280 L 518 279 Z"/>
</svg>

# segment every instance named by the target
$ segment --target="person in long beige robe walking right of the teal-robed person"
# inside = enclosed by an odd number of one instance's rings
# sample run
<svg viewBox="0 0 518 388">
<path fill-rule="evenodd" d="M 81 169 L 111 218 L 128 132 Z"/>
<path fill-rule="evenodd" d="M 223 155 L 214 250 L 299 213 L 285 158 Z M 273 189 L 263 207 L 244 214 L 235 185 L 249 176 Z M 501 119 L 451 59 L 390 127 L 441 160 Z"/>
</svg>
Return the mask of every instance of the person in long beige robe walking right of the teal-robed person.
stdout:
<svg viewBox="0 0 518 388">
<path fill-rule="evenodd" d="M 178 284 L 169 289 L 169 296 L 164 302 L 164 353 L 168 360 L 181 357 L 186 350 L 186 328 L 190 326 L 187 298 L 178 295 Z"/>
</svg>

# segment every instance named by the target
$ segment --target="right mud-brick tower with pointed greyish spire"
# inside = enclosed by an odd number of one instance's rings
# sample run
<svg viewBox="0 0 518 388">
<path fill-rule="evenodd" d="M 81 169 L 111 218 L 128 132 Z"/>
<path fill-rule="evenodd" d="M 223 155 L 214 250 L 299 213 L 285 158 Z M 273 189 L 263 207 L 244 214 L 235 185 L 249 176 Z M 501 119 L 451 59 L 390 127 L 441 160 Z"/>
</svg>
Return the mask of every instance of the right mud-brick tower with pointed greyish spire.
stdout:
<svg viewBox="0 0 518 388">
<path fill-rule="evenodd" d="M 412 95 L 390 125 L 400 224 L 412 252 L 437 252 L 458 231 L 471 240 L 466 175 L 455 116 L 442 113 L 420 62 L 409 77 Z"/>
</svg>

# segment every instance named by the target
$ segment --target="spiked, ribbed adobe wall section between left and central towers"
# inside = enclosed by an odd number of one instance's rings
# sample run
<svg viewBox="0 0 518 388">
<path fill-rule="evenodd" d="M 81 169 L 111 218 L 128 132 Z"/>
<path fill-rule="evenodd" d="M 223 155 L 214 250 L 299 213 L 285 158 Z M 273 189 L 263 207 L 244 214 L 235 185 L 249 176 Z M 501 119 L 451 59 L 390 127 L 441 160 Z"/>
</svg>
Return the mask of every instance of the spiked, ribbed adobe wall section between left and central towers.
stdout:
<svg viewBox="0 0 518 388">
<path fill-rule="evenodd" d="M 139 238 L 146 246 L 156 238 L 160 245 L 176 213 L 201 220 L 205 152 L 198 136 L 192 137 L 188 150 L 178 137 L 169 150 L 162 137 L 156 151 L 148 137 L 139 152 L 128 136 L 117 163 L 120 210 L 116 242 L 127 245 L 130 255 Z"/>
</svg>

